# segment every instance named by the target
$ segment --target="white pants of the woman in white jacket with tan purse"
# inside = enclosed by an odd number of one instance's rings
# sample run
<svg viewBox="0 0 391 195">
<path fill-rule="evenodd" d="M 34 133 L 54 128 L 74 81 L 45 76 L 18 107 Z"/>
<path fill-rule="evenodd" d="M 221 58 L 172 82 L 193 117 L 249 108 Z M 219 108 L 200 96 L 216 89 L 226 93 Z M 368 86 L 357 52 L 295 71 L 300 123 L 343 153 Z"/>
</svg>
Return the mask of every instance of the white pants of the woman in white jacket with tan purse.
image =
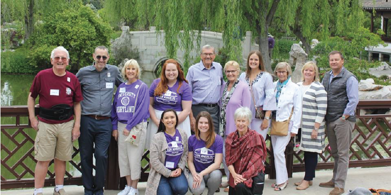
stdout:
<svg viewBox="0 0 391 195">
<path fill-rule="evenodd" d="M 276 183 L 282 184 L 288 180 L 288 171 L 285 161 L 285 148 L 290 140 L 290 129 L 292 121 L 289 123 L 287 136 L 271 136 L 271 145 L 273 146 L 274 166 L 276 168 Z"/>
</svg>

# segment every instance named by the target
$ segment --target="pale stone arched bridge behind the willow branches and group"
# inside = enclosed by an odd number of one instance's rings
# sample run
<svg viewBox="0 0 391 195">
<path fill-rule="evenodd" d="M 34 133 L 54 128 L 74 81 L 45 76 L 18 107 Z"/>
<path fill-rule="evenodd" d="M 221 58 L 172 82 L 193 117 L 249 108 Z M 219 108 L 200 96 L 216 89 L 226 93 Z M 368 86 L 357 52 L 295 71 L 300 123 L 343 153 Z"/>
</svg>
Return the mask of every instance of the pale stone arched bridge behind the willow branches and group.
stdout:
<svg viewBox="0 0 391 195">
<path fill-rule="evenodd" d="M 168 59 L 167 52 L 164 45 L 165 33 L 162 32 L 160 35 L 157 34 L 155 27 L 150 27 L 149 31 L 131 31 L 129 32 L 128 26 L 122 27 L 122 34 L 119 38 L 116 38 L 113 44 L 119 44 L 126 39 L 131 40 L 132 47 L 137 47 L 140 53 L 139 64 L 144 71 L 156 71 L 159 64 L 162 61 Z M 252 50 L 258 50 L 258 44 L 251 44 L 251 32 L 247 31 L 246 36 L 242 41 L 243 48 L 243 60 L 244 63 L 247 62 L 247 55 Z M 194 39 L 193 44 L 196 46 L 197 42 Z M 201 44 L 211 45 L 215 48 L 216 53 L 219 49 L 224 46 L 222 33 L 210 32 L 210 31 L 201 31 Z M 185 52 L 182 50 L 177 51 L 176 60 L 180 64 L 183 64 Z M 200 48 L 191 51 L 190 57 L 196 58 L 200 55 Z"/>
</svg>

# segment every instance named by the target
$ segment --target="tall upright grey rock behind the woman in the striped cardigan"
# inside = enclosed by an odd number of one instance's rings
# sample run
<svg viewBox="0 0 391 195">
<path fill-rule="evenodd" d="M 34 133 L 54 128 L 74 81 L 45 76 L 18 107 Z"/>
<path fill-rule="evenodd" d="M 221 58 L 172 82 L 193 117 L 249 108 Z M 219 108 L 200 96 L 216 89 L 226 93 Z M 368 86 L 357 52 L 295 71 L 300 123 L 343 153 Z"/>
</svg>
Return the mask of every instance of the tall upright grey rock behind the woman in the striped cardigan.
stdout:
<svg viewBox="0 0 391 195">
<path fill-rule="evenodd" d="M 308 54 L 300 47 L 299 44 L 293 44 L 289 52 L 289 64 L 295 66 L 292 72 L 292 81 L 297 83 L 301 78 L 301 70 L 307 61 Z"/>
</svg>

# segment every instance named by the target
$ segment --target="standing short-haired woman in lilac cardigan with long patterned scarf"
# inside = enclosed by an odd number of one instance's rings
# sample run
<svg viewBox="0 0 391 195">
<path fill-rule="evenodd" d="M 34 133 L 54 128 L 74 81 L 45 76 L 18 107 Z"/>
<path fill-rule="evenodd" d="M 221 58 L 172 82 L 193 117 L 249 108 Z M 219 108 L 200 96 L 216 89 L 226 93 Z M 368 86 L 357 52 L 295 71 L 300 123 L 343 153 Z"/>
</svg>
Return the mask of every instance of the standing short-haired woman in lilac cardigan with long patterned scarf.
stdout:
<svg viewBox="0 0 391 195">
<path fill-rule="evenodd" d="M 224 66 L 226 73 L 226 82 L 220 91 L 220 128 L 219 135 L 226 141 L 227 135 L 236 130 L 235 120 L 233 114 L 239 107 L 251 106 L 251 94 L 247 84 L 238 79 L 240 74 L 240 66 L 236 61 L 229 61 Z M 223 163 L 226 176 L 229 176 L 229 171 L 226 166 L 226 149 L 223 148 Z M 227 183 L 222 184 L 227 187 Z M 228 192 L 228 188 L 224 190 Z"/>
</svg>

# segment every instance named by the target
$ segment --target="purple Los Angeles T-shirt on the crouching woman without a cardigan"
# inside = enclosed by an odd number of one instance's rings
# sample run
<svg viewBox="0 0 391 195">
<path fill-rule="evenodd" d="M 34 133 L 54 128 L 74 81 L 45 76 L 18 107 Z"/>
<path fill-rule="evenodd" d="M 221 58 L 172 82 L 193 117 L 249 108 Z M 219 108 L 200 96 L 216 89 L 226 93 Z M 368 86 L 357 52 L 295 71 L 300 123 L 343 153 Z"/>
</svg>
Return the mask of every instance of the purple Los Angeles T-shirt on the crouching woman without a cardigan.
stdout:
<svg viewBox="0 0 391 195">
<path fill-rule="evenodd" d="M 194 167 L 200 173 L 214 163 L 216 154 L 223 153 L 223 138 L 216 135 L 214 143 L 209 148 L 206 148 L 204 140 L 197 140 L 195 135 L 192 135 L 189 138 L 188 146 L 189 152 L 193 152 Z"/>
</svg>

